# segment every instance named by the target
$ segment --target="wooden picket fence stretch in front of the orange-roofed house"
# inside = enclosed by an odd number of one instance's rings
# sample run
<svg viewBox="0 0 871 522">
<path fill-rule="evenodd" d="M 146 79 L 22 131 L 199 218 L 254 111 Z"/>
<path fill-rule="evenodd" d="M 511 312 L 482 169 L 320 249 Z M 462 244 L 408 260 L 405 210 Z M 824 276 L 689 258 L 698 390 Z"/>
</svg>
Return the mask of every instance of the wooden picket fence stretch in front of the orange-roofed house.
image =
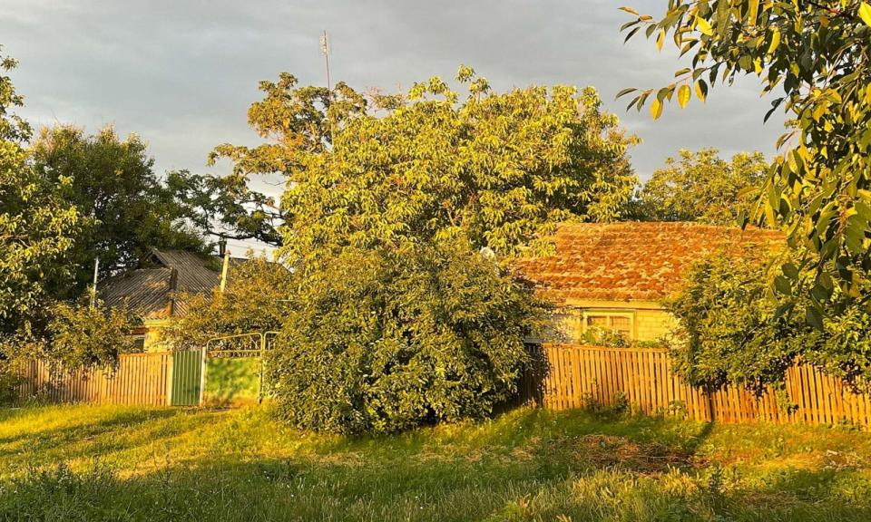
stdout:
<svg viewBox="0 0 871 522">
<path fill-rule="evenodd" d="M 770 389 L 757 397 L 737 386 L 711 393 L 692 387 L 671 371 L 665 350 L 545 345 L 541 354 L 547 369 L 526 383 L 525 392 L 554 410 L 590 401 L 612 405 L 622 394 L 633 411 L 685 411 L 694 420 L 871 424 L 871 395 L 854 393 L 840 379 L 806 364 L 787 372 L 793 407 L 785 409 Z"/>
</svg>

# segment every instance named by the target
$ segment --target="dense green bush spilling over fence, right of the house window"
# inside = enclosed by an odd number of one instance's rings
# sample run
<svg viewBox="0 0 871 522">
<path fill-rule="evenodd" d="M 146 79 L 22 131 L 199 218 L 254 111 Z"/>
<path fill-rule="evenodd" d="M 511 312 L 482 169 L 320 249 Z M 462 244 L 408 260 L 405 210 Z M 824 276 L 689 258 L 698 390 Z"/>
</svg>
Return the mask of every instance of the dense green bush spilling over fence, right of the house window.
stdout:
<svg viewBox="0 0 871 522">
<path fill-rule="evenodd" d="M 773 275 L 780 261 L 715 255 L 695 267 L 686 290 L 670 303 L 682 333 L 671 346 L 676 371 L 692 384 L 735 382 L 761 391 L 767 384 L 781 387 L 786 370 L 805 361 L 867 389 L 871 314 L 836 294 L 829 306 L 837 313 L 814 316 L 809 291 L 788 290 L 788 278 Z M 771 278 L 781 286 L 778 294 L 768 287 Z M 797 297 L 784 297 L 787 292 Z"/>
</svg>

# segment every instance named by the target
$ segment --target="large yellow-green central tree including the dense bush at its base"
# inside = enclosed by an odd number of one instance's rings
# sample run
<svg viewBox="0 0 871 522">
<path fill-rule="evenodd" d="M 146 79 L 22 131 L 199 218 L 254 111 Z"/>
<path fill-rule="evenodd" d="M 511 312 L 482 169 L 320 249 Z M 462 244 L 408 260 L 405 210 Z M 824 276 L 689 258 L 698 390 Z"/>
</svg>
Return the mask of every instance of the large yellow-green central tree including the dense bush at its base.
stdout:
<svg viewBox="0 0 871 522">
<path fill-rule="evenodd" d="M 467 67 L 458 80 L 462 100 L 438 78 L 364 96 L 282 74 L 249 111 L 267 141 L 214 152 L 233 162 L 230 184 L 287 181 L 278 227 L 243 207 L 295 270 L 269 373 L 298 426 L 393 431 L 492 411 L 545 308 L 500 261 L 560 221 L 615 218 L 631 196 L 633 139 L 592 89 L 496 93 Z"/>
</svg>

